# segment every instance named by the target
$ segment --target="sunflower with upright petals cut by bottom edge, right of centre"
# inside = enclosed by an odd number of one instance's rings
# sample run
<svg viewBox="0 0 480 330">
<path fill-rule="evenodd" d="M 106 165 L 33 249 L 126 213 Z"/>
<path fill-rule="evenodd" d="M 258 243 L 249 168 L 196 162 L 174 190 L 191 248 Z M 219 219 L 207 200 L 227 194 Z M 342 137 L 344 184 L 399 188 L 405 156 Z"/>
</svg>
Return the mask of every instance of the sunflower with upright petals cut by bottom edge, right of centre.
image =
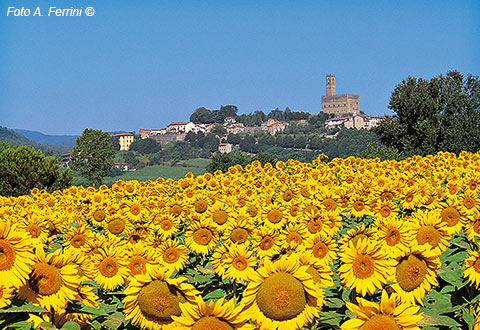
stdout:
<svg viewBox="0 0 480 330">
<path fill-rule="evenodd" d="M 423 319 L 423 313 L 418 313 L 420 306 L 398 303 L 395 294 L 389 297 L 386 291 L 382 291 L 380 305 L 359 297 L 358 305 L 345 303 L 356 318 L 345 321 L 341 330 L 420 330 L 415 325 Z"/>
</svg>

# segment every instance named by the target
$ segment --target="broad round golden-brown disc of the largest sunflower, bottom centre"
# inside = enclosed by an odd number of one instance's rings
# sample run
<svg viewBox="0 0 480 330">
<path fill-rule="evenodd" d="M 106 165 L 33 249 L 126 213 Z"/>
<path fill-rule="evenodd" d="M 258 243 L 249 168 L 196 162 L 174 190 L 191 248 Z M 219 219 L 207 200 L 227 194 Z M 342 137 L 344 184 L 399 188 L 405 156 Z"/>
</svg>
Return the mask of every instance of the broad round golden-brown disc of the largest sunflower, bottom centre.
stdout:
<svg viewBox="0 0 480 330">
<path fill-rule="evenodd" d="M 289 320 L 299 315 L 307 303 L 302 283 L 285 272 L 271 274 L 260 285 L 257 305 L 266 317 Z"/>
</svg>

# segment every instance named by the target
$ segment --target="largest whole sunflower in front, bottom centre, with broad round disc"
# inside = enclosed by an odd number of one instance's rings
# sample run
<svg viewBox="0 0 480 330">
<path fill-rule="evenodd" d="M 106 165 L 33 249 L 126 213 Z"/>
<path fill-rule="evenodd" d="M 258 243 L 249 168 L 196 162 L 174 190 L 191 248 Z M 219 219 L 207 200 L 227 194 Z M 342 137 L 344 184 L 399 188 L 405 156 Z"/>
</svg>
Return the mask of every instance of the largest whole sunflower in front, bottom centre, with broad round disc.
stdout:
<svg viewBox="0 0 480 330">
<path fill-rule="evenodd" d="M 245 312 L 263 329 L 301 329 L 322 309 L 324 293 L 294 254 L 266 259 L 243 292 Z"/>
</svg>

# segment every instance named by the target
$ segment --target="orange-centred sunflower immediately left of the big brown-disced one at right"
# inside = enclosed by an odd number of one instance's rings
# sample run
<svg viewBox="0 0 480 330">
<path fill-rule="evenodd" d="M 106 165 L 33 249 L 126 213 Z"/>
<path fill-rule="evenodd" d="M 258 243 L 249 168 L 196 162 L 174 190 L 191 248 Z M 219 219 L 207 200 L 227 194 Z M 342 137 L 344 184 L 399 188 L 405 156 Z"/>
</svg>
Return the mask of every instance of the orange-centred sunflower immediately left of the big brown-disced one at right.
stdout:
<svg viewBox="0 0 480 330">
<path fill-rule="evenodd" d="M 363 238 L 356 243 L 349 241 L 340 253 L 343 264 L 338 273 L 342 284 L 362 296 L 374 294 L 376 289 L 387 283 L 387 276 L 392 270 L 392 261 L 386 258 L 386 253 L 369 239 Z"/>
</svg>

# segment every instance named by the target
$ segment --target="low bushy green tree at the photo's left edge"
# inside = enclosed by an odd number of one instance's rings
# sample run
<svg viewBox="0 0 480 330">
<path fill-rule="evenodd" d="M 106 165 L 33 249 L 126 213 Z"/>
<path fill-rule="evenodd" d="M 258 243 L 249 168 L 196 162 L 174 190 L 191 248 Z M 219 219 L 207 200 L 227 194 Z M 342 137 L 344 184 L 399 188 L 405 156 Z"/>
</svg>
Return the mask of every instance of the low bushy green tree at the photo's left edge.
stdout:
<svg viewBox="0 0 480 330">
<path fill-rule="evenodd" d="M 72 181 L 72 171 L 61 171 L 55 157 L 27 146 L 0 144 L 0 195 L 27 195 L 33 188 L 51 192 L 70 187 Z"/>
</svg>

